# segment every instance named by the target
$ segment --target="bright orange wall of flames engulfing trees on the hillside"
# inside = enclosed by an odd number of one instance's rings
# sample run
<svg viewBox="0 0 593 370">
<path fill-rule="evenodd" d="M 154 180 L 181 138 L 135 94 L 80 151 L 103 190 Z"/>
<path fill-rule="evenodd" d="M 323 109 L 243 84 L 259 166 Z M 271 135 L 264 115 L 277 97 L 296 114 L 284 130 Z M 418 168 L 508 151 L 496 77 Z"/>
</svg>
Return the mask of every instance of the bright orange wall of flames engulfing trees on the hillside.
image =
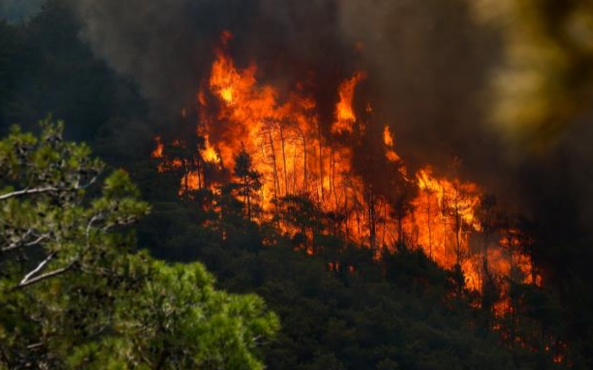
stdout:
<svg viewBox="0 0 593 370">
<path fill-rule="evenodd" d="M 477 184 L 434 175 L 430 166 L 412 173 L 396 152 L 389 126 L 374 119 L 371 104 L 356 111 L 356 89 L 366 72 L 343 78 L 335 93 L 334 122 L 324 126 L 318 102 L 300 85 L 280 98 L 278 89 L 258 82 L 255 63 L 238 68 L 226 52 L 232 39 L 223 33 L 211 74 L 197 94 L 195 144 L 173 141 L 168 149 L 155 139 L 158 170 L 182 172 L 180 195 L 215 190 L 234 178 L 248 217 L 274 221 L 288 235 L 301 233 L 301 247 L 310 254 L 316 252 L 313 230 L 280 217 L 297 198 L 328 215 L 323 232 L 367 246 L 376 258 L 383 250 L 422 248 L 444 268 L 460 266 L 471 290 L 482 290 L 490 274 L 531 283 L 541 279 L 517 252 L 525 240 L 493 226 L 491 207 Z M 375 130 L 376 125 L 383 129 Z M 354 146 L 375 131 L 382 153 L 368 160 L 382 173 L 376 184 L 354 164 Z M 181 147 L 190 153 L 167 154 Z M 225 175 L 213 180 L 207 172 Z"/>
</svg>

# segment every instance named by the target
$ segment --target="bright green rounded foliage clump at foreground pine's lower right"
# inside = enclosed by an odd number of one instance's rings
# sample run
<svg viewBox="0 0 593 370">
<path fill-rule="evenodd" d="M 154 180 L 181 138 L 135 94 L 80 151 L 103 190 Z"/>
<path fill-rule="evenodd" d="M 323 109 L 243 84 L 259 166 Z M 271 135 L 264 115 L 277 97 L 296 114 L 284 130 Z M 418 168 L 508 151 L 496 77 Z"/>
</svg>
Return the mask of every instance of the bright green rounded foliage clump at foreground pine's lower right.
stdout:
<svg viewBox="0 0 593 370">
<path fill-rule="evenodd" d="M 200 264 L 155 263 L 138 298 L 118 307 L 134 364 L 154 369 L 263 369 L 254 351 L 277 330 L 257 296 L 217 292 Z M 158 364 L 158 366 L 157 366 Z"/>
</svg>

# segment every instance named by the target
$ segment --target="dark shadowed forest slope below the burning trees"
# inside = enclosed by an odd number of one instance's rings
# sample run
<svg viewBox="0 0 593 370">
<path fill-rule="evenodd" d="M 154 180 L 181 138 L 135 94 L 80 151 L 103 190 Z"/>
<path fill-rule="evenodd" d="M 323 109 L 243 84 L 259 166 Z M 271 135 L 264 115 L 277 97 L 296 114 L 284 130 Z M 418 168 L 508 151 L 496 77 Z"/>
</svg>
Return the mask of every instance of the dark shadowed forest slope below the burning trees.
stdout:
<svg viewBox="0 0 593 370">
<path fill-rule="evenodd" d="M 305 221 L 304 199 L 281 204 L 294 226 L 319 228 L 312 225 L 319 219 Z M 267 225 L 246 232 L 246 219 L 208 217 L 187 200 L 160 203 L 140 236 L 160 257 L 204 261 L 228 290 L 266 300 L 283 323 L 264 353 L 269 369 L 564 368 L 543 349 L 550 340 L 539 331 L 559 333 L 541 325 L 558 313 L 550 292 L 525 286 L 513 318 L 497 318 L 473 307 L 479 300 L 460 286 L 459 270 L 442 270 L 422 250 L 402 248 L 376 261 L 368 248 L 318 235 L 308 256 Z M 510 328 L 530 347 L 506 342 Z"/>
</svg>

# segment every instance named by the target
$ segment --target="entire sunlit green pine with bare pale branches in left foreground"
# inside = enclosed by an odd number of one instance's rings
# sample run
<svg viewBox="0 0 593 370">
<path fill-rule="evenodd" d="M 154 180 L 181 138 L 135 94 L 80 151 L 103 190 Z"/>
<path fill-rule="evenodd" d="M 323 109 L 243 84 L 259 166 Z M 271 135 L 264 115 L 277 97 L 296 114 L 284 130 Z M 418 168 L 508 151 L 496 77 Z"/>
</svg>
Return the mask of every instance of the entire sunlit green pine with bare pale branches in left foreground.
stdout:
<svg viewBox="0 0 593 370">
<path fill-rule="evenodd" d="M 0 140 L 0 369 L 263 369 L 276 316 L 133 253 L 149 206 L 89 155 L 50 119 Z"/>
</svg>

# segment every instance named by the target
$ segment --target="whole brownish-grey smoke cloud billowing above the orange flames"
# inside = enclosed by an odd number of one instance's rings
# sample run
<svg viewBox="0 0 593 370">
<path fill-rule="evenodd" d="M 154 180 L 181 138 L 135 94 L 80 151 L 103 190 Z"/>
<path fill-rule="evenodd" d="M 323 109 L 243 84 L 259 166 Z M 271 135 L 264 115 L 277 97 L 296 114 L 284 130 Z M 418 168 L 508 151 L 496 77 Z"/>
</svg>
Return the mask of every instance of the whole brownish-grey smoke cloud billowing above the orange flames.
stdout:
<svg viewBox="0 0 593 370">
<path fill-rule="evenodd" d="M 313 93 L 328 107 L 325 116 L 333 101 L 323 99 L 335 99 L 339 80 L 358 68 L 369 71 L 365 98 L 378 105 L 412 163 L 444 168 L 454 155 L 477 163 L 499 152 L 481 124 L 495 47 L 462 0 L 72 3 L 95 54 L 136 80 L 157 107 L 178 111 L 195 99 L 218 35 L 230 30 L 239 63 L 257 61 L 278 86 L 316 72 L 321 86 Z M 475 150 L 484 144 L 493 149 Z"/>
</svg>

